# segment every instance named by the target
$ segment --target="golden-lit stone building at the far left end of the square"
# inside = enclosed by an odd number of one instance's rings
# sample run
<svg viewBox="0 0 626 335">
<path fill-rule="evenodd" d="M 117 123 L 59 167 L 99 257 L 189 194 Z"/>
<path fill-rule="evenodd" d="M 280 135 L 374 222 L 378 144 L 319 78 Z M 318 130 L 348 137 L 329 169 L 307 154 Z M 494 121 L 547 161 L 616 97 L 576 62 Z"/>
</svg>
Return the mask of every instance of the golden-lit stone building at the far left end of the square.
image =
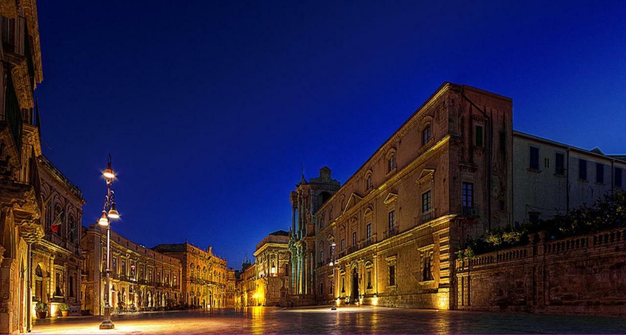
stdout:
<svg viewBox="0 0 626 335">
<path fill-rule="evenodd" d="M 183 302 L 189 306 L 221 308 L 226 306 L 226 260 L 213 255 L 212 248 L 200 249 L 187 242 L 159 244 L 152 250 L 180 260 Z"/>
</svg>

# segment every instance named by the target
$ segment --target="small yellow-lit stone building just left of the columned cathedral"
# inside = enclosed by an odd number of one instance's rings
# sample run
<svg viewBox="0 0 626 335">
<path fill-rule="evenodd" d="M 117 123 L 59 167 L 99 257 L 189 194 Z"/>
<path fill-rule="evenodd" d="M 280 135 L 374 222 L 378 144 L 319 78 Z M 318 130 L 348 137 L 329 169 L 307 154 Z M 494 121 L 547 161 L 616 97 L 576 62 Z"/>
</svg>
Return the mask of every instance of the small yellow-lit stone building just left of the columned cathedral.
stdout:
<svg viewBox="0 0 626 335">
<path fill-rule="evenodd" d="M 267 235 L 254 252 L 256 302 L 262 306 L 286 306 L 289 295 L 289 232 Z"/>
</svg>

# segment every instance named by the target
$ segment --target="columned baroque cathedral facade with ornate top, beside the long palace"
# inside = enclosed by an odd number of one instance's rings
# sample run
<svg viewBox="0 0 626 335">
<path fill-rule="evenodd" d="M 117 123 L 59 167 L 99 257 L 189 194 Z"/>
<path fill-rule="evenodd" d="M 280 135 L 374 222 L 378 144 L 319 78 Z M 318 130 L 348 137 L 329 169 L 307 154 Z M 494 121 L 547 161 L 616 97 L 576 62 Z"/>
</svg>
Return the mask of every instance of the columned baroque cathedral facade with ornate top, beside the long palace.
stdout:
<svg viewBox="0 0 626 335">
<path fill-rule="evenodd" d="M 337 192 L 340 183 L 331 178 L 331 169 L 323 167 L 319 177 L 309 182 L 302 178 L 295 185 L 291 202 L 291 230 L 289 251 L 291 253 L 291 299 L 295 304 L 314 302 L 314 269 L 316 230 L 312 215 Z"/>
</svg>

